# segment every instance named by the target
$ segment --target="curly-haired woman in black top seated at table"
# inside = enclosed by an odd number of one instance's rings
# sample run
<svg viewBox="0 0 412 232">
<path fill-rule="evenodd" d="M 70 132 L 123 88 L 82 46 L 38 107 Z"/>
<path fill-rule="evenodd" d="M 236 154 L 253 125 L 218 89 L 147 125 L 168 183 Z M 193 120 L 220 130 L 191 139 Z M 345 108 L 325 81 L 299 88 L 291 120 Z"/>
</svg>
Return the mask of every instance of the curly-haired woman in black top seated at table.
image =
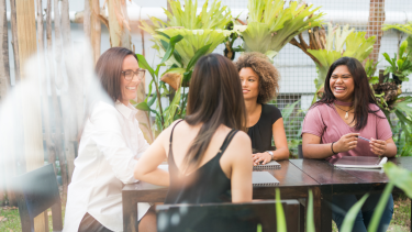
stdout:
<svg viewBox="0 0 412 232">
<path fill-rule="evenodd" d="M 266 104 L 279 91 L 280 75 L 266 55 L 245 53 L 236 62 L 247 111 L 247 134 L 252 140 L 254 165 L 289 157 L 280 110 Z M 271 146 L 274 137 L 276 150 Z"/>
</svg>

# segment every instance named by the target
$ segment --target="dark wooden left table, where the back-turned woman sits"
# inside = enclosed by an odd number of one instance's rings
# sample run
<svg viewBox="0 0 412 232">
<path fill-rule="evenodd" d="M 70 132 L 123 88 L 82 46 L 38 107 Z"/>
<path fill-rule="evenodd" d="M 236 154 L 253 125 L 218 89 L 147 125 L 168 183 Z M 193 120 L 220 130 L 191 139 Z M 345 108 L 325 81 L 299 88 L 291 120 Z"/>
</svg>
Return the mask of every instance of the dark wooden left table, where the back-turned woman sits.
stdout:
<svg viewBox="0 0 412 232">
<path fill-rule="evenodd" d="M 264 169 L 269 172 L 279 180 L 282 199 L 308 198 L 308 190 L 314 194 L 314 209 L 321 209 L 321 190 L 319 184 L 309 175 L 304 174 L 289 161 L 279 162 L 280 169 Z M 144 181 L 125 185 L 122 190 L 123 197 L 123 231 L 136 231 L 137 228 L 137 202 L 163 202 L 166 198 L 167 188 L 154 186 Z M 275 199 L 275 187 L 254 187 L 254 199 Z M 275 219 L 274 219 L 275 220 Z M 300 220 L 303 220 L 301 217 Z M 321 221 L 315 220 L 316 231 L 321 228 Z M 303 231 L 303 228 L 302 228 Z"/>
</svg>

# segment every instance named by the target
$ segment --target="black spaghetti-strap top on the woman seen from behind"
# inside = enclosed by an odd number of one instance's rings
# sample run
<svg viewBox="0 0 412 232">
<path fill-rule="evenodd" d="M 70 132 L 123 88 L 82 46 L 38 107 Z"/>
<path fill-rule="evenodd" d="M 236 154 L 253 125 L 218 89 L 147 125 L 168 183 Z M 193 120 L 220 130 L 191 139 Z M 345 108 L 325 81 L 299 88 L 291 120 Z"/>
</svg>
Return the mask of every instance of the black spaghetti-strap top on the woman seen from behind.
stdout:
<svg viewBox="0 0 412 232">
<path fill-rule="evenodd" d="M 237 131 L 232 130 L 227 134 L 219 153 L 212 159 L 190 175 L 185 176 L 176 166 L 171 150 L 175 126 L 170 133 L 168 157 L 170 186 L 165 203 L 232 202 L 231 179 L 223 173 L 219 161 Z"/>
</svg>

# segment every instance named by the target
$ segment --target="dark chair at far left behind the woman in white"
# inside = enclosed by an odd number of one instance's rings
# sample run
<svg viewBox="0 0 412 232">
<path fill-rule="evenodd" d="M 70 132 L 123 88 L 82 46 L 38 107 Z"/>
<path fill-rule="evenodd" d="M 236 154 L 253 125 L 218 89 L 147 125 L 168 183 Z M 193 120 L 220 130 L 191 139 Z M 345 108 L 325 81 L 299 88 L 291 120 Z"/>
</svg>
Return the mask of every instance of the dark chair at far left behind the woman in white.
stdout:
<svg viewBox="0 0 412 232">
<path fill-rule="evenodd" d="M 34 218 L 52 208 L 53 231 L 62 231 L 62 202 L 53 164 L 45 165 L 13 179 L 22 232 L 34 231 Z M 45 213 L 46 231 L 48 216 Z"/>
</svg>

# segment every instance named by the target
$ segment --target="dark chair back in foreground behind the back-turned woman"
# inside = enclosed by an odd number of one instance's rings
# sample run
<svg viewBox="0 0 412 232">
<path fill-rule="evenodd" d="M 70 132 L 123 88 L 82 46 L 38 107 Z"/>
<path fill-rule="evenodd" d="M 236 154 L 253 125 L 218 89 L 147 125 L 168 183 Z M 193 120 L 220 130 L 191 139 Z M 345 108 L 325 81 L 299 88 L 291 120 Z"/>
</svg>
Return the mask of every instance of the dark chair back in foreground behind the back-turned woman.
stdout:
<svg viewBox="0 0 412 232">
<path fill-rule="evenodd" d="M 157 211 L 158 232 L 256 232 L 276 231 L 274 200 L 247 203 L 160 205 Z M 281 200 L 288 231 L 300 231 L 299 202 Z"/>
</svg>

